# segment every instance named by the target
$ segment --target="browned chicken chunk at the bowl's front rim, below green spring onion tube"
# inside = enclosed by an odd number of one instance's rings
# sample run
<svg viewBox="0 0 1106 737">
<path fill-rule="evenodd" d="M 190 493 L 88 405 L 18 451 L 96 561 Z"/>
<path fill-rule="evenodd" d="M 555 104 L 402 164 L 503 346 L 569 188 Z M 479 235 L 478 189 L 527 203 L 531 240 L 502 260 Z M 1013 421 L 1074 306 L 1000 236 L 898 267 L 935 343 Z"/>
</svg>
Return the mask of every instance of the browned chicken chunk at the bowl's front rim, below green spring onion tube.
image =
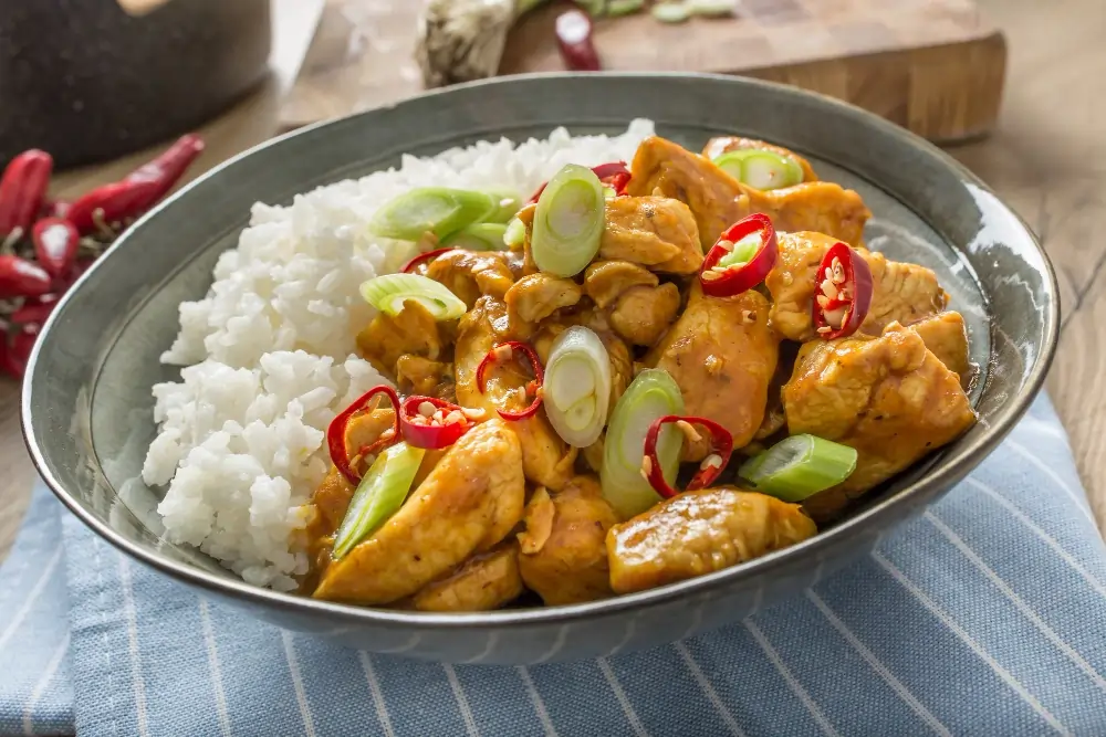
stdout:
<svg viewBox="0 0 1106 737">
<path fill-rule="evenodd" d="M 734 486 L 684 492 L 607 533 L 611 588 L 630 593 L 712 573 L 817 533 L 797 504 Z"/>
</svg>

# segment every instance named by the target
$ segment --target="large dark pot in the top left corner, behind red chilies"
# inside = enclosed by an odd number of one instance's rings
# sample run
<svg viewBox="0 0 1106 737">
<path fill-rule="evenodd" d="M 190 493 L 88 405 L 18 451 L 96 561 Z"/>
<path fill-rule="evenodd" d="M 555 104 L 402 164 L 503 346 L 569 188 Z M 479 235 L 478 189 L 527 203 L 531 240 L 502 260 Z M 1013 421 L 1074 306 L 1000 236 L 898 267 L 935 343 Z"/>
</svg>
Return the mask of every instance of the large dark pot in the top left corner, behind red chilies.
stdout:
<svg viewBox="0 0 1106 737">
<path fill-rule="evenodd" d="M 0 164 L 28 148 L 59 168 L 194 128 L 267 72 L 270 0 L 0 0 Z"/>
</svg>

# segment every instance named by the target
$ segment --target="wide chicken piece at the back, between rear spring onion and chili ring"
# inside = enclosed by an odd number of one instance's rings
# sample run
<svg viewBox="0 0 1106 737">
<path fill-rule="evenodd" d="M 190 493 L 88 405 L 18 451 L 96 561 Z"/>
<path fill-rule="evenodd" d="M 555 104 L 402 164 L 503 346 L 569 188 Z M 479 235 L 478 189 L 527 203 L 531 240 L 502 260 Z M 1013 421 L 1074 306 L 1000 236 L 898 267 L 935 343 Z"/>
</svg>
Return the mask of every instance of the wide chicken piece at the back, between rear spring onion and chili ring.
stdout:
<svg viewBox="0 0 1106 737">
<path fill-rule="evenodd" d="M 859 245 L 872 212 L 853 190 L 811 181 L 761 191 L 742 185 L 710 160 L 664 138 L 641 141 L 634 156 L 629 194 L 661 194 L 686 202 L 695 214 L 703 250 L 723 230 L 753 212 L 772 219 L 778 231 L 817 231 Z"/>
</svg>

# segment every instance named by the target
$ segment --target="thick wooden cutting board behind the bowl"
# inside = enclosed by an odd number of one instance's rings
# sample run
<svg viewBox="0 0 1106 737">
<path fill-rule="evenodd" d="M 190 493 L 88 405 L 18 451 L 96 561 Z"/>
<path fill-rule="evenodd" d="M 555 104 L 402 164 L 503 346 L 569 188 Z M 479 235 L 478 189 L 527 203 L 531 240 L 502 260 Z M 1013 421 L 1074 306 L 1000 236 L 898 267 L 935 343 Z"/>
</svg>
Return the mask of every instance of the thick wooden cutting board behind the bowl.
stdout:
<svg viewBox="0 0 1106 737">
<path fill-rule="evenodd" d="M 415 28 L 424 0 L 326 0 L 281 120 L 295 128 L 422 88 Z M 512 29 L 500 74 L 564 69 L 554 0 Z M 730 19 L 669 25 L 648 13 L 595 23 L 607 70 L 739 74 L 848 101 L 931 140 L 987 134 L 1006 44 L 971 0 L 742 0 Z"/>
</svg>

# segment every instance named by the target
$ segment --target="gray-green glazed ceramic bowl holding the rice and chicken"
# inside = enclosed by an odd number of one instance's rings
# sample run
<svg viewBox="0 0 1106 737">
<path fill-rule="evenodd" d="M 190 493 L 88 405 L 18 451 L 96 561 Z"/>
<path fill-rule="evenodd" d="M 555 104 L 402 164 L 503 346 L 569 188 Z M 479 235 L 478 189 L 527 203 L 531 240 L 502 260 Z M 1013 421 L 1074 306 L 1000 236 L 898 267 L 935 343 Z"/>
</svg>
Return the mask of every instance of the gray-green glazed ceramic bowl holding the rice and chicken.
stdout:
<svg viewBox="0 0 1106 737">
<path fill-rule="evenodd" d="M 651 591 L 572 607 L 428 614 L 349 607 L 258 589 L 161 539 L 157 489 L 138 478 L 154 438 L 150 386 L 177 331 L 177 306 L 204 295 L 219 253 L 255 201 L 398 164 L 404 152 L 508 136 L 614 133 L 633 117 L 698 149 L 712 135 L 765 138 L 857 189 L 866 239 L 936 270 L 971 331 L 980 422 L 872 494 L 843 522 L 785 550 Z M 313 126 L 248 151 L 145 217 L 54 312 L 23 390 L 27 442 L 46 483 L 97 535 L 142 564 L 289 630 L 378 653 L 449 662 L 536 663 L 651 646 L 740 620 L 795 593 L 920 513 L 1002 440 L 1040 389 L 1056 345 L 1052 269 L 1019 218 L 950 157 L 857 108 L 733 77 L 519 76 L 416 97 Z"/>
</svg>

